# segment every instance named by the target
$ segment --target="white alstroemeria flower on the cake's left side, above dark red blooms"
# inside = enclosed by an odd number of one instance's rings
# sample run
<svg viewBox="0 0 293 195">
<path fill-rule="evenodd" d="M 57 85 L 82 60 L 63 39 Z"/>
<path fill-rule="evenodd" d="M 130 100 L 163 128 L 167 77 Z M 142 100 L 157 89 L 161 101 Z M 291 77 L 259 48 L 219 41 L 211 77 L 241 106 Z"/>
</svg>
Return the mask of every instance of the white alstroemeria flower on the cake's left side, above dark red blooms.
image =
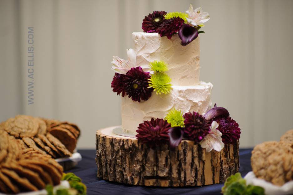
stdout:
<svg viewBox="0 0 293 195">
<path fill-rule="evenodd" d="M 127 50 L 128 60 L 113 56 L 112 70 L 125 75 L 131 68 L 136 67 L 136 53 L 133 49 Z"/>
</svg>

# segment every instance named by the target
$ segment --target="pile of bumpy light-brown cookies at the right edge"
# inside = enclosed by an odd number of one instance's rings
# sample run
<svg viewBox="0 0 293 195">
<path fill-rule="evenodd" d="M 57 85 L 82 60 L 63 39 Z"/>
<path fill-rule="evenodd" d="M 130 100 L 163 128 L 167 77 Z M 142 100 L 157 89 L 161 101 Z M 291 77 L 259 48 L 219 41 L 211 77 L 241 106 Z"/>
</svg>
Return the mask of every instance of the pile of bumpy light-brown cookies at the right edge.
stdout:
<svg viewBox="0 0 293 195">
<path fill-rule="evenodd" d="M 277 186 L 293 180 L 293 129 L 277 141 L 268 141 L 255 146 L 251 167 L 257 178 Z"/>
</svg>

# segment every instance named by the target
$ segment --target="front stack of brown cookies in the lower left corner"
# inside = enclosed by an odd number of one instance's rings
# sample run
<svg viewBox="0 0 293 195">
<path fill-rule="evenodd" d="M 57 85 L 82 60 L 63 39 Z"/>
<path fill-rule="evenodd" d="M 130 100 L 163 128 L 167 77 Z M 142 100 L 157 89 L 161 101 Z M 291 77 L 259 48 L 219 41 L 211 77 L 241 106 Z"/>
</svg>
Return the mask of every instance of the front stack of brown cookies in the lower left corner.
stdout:
<svg viewBox="0 0 293 195">
<path fill-rule="evenodd" d="M 18 128 L 21 125 L 17 125 Z M 21 139 L 0 129 L 0 192 L 16 194 L 40 190 L 47 184 L 59 184 L 62 166 L 39 150 L 23 149 L 24 143 L 20 142 Z"/>
</svg>

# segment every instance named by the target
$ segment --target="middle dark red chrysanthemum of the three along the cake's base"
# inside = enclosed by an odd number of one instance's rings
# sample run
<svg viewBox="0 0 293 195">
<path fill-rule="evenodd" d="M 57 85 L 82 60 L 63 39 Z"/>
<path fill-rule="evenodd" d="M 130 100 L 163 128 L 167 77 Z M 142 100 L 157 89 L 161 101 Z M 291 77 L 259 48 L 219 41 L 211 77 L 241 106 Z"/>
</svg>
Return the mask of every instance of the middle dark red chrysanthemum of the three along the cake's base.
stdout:
<svg viewBox="0 0 293 195">
<path fill-rule="evenodd" d="M 184 137 L 200 142 L 210 133 L 210 124 L 202 115 L 197 112 L 186 113 L 184 116 Z"/>
</svg>

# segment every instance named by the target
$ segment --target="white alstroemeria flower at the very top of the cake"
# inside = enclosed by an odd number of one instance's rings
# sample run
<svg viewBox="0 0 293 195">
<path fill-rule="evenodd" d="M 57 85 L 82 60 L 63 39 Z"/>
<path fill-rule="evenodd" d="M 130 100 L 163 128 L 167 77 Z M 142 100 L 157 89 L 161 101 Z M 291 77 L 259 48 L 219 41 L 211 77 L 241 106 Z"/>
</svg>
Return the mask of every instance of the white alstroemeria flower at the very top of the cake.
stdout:
<svg viewBox="0 0 293 195">
<path fill-rule="evenodd" d="M 193 10 L 192 4 L 190 4 L 189 9 L 186 11 L 186 13 L 188 14 L 188 17 L 186 18 L 187 22 L 195 27 L 210 20 L 210 15 L 208 12 L 202 12 L 201 7 Z"/>
</svg>

